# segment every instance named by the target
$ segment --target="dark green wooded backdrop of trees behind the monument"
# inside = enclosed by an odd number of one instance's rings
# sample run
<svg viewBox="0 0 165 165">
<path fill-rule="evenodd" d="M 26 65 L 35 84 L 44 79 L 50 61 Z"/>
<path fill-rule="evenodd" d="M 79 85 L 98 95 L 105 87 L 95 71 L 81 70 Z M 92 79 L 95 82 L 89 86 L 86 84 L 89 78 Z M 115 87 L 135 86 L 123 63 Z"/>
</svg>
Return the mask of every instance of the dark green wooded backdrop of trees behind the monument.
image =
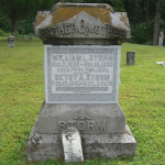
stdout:
<svg viewBox="0 0 165 165">
<path fill-rule="evenodd" d="M 117 12 L 125 11 L 133 36 L 128 40 L 131 43 L 157 45 L 158 32 L 165 32 L 165 0 L 0 0 L 0 29 L 9 31 L 11 28 L 15 31 L 15 24 L 19 21 L 19 32 L 22 30 L 26 33 L 32 32 L 31 24 L 35 20 L 36 12 L 51 10 L 58 1 L 108 3 Z M 10 20 L 11 25 L 9 25 Z"/>
</svg>

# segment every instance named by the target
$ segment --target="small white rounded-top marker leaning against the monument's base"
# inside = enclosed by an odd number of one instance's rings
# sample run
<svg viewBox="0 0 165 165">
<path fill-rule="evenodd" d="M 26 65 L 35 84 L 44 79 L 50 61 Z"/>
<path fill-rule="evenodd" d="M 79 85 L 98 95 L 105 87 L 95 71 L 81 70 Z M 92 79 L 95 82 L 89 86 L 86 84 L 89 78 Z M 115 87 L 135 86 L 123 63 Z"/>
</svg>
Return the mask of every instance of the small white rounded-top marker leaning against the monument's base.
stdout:
<svg viewBox="0 0 165 165">
<path fill-rule="evenodd" d="M 66 163 L 82 162 L 81 139 L 78 130 L 74 127 L 66 127 L 62 131 L 64 157 Z"/>
</svg>

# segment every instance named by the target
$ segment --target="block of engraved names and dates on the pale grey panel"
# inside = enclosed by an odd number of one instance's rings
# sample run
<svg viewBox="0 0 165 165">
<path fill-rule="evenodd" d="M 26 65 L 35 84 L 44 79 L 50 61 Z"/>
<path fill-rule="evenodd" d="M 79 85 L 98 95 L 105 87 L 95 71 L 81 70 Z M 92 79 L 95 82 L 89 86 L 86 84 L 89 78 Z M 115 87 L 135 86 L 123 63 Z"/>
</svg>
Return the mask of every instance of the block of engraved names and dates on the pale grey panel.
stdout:
<svg viewBox="0 0 165 165">
<path fill-rule="evenodd" d="M 113 54 L 52 54 L 52 94 L 112 92 Z"/>
</svg>

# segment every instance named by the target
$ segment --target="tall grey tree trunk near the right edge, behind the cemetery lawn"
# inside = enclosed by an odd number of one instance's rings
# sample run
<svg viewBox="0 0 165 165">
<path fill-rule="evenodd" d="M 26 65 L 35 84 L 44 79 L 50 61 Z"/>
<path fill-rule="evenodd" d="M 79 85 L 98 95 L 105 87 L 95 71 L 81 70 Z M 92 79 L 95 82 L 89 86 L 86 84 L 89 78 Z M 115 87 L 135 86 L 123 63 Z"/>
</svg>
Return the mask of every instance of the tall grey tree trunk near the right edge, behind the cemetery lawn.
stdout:
<svg viewBox="0 0 165 165">
<path fill-rule="evenodd" d="M 160 31 L 160 21 L 161 21 L 161 0 L 157 0 L 156 4 L 156 18 L 155 18 L 155 28 L 154 28 L 154 37 L 153 37 L 153 45 L 157 46 L 157 38 L 158 38 L 158 31 Z"/>
</svg>

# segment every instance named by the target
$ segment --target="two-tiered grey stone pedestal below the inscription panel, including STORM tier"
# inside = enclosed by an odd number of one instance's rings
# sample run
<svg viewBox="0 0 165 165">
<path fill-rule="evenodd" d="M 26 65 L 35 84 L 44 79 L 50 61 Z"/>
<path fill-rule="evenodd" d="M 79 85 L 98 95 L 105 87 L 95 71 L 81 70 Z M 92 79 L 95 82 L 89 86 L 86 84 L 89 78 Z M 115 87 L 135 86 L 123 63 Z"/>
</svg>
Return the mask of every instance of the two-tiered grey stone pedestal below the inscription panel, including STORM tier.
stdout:
<svg viewBox="0 0 165 165">
<path fill-rule="evenodd" d="M 61 132 L 66 127 L 79 129 L 85 158 L 133 156 L 136 142 L 118 103 L 43 103 L 30 134 L 29 161 L 64 158 Z"/>
</svg>

